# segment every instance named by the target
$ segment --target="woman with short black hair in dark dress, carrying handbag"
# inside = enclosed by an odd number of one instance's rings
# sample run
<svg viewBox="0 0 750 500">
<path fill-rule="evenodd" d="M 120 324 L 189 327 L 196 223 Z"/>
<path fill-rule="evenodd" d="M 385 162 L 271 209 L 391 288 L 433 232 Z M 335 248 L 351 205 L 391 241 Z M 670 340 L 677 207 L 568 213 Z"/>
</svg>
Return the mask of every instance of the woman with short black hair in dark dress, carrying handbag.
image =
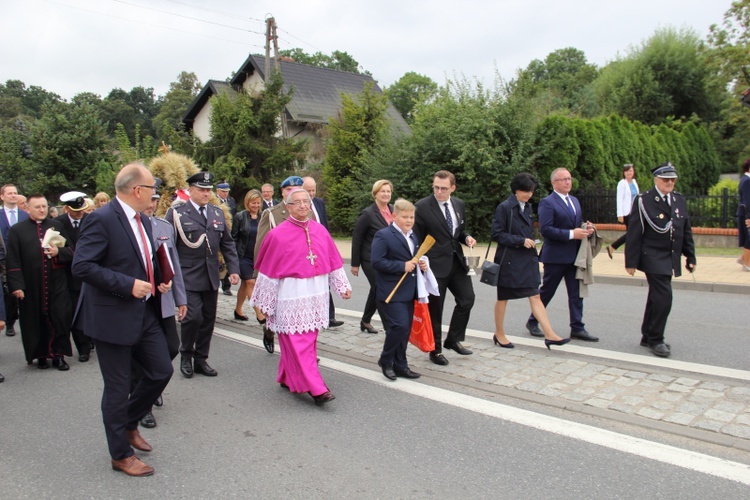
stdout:
<svg viewBox="0 0 750 500">
<path fill-rule="evenodd" d="M 492 240 L 497 242 L 495 263 L 500 265 L 495 302 L 495 335 L 500 347 L 515 347 L 505 336 L 503 326 L 508 300 L 529 298 L 531 312 L 544 332 L 544 344 L 563 345 L 570 339 L 560 338 L 553 330 L 547 310 L 539 297 L 539 255 L 532 233 L 531 204 L 529 200 L 539 183 L 534 176 L 522 172 L 510 181 L 513 192 L 500 203 L 492 218 Z"/>
</svg>

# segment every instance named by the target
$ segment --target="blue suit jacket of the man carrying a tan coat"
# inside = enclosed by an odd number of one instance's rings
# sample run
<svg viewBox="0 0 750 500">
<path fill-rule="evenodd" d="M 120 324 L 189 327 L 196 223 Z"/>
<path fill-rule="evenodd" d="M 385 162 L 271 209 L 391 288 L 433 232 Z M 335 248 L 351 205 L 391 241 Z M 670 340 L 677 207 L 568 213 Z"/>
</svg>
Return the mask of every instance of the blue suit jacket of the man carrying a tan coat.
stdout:
<svg viewBox="0 0 750 500">
<path fill-rule="evenodd" d="M 575 216 L 554 191 L 539 202 L 539 229 L 544 237 L 539 260 L 545 264 L 572 264 L 578 255 L 581 240 L 570 239 L 570 230 L 581 227 L 583 217 L 578 198 L 571 196 L 570 201 Z"/>
</svg>

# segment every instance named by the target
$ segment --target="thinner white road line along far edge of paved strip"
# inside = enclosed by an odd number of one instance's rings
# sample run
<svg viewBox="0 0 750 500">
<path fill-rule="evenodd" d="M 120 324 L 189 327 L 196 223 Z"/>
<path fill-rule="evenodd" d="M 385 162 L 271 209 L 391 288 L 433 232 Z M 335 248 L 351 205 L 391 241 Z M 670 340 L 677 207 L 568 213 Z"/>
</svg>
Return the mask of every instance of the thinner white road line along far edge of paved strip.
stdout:
<svg viewBox="0 0 750 500">
<path fill-rule="evenodd" d="M 362 315 L 361 312 L 341 309 L 338 307 L 336 308 L 336 314 L 337 315 L 344 314 L 347 316 L 352 316 L 354 318 L 359 318 Z M 375 317 L 379 319 L 377 314 L 375 315 Z M 447 325 L 443 325 L 443 331 L 448 331 Z M 481 330 L 472 330 L 472 329 L 467 328 L 466 335 L 467 337 L 485 339 L 488 342 L 492 341 L 492 332 L 483 332 Z M 534 338 L 528 338 L 528 337 L 515 337 L 513 335 L 508 335 L 508 340 L 510 340 L 514 344 L 518 344 L 518 345 L 522 345 L 526 347 L 544 348 L 543 339 L 534 339 Z M 636 338 L 636 341 L 637 340 L 638 339 Z M 711 375 L 714 377 L 725 377 L 725 378 L 731 378 L 735 380 L 743 380 L 745 382 L 750 382 L 750 371 L 747 371 L 747 370 L 723 368 L 721 366 L 703 365 L 700 363 L 689 363 L 687 361 L 680 361 L 678 359 L 657 358 L 652 355 L 641 356 L 639 354 L 629 354 L 629 353 L 624 353 L 624 352 L 608 351 L 606 349 L 593 349 L 591 347 L 581 347 L 578 345 L 573 345 L 572 343 L 567 344 L 564 348 L 561 348 L 561 349 L 564 349 L 565 352 L 572 352 L 574 354 L 580 354 L 582 356 L 590 356 L 592 358 L 609 359 L 612 361 L 622 361 L 625 363 L 636 363 L 639 365 L 646 365 L 646 366 L 651 366 L 651 367 L 656 367 L 656 368 L 666 368 L 669 370 L 699 373 L 703 375 Z"/>
</svg>

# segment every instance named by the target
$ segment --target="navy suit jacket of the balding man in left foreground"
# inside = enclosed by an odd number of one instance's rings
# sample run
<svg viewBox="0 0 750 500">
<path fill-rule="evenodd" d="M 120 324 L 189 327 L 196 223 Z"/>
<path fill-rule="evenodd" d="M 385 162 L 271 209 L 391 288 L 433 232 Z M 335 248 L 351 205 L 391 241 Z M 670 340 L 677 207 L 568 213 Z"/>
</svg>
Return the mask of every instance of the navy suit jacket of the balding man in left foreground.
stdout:
<svg viewBox="0 0 750 500">
<path fill-rule="evenodd" d="M 154 251 L 152 223 L 143 216 L 143 228 Z M 158 259 L 153 259 L 154 278 L 159 283 Z M 73 256 L 73 275 L 83 281 L 78 320 L 87 335 L 118 345 L 134 345 L 141 338 L 145 299 L 133 297 L 135 279 L 148 280 L 138 240 L 120 202 L 115 198 L 83 220 Z M 156 292 L 161 317 L 160 294 Z"/>
</svg>

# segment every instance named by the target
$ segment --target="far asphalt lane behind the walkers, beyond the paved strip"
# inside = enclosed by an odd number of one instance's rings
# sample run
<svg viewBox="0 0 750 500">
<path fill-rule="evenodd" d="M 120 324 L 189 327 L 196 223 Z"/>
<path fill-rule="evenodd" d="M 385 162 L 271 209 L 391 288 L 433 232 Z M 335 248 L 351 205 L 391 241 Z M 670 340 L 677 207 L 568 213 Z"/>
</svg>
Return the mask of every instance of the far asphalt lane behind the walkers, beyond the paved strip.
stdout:
<svg viewBox="0 0 750 500">
<path fill-rule="evenodd" d="M 348 265 L 346 269 L 348 273 Z M 491 332 L 495 330 L 495 289 L 480 283 L 478 276 L 473 280 L 476 301 L 469 328 L 488 332 L 487 339 L 491 339 Z M 362 274 L 359 277 L 349 274 L 349 281 L 353 287 L 352 298 L 348 301 L 335 298 L 336 307 L 362 311 L 369 290 L 367 280 Z M 610 351 L 648 354 L 639 345 L 647 294 L 648 288 L 640 286 L 590 286 L 589 297 L 584 299 L 583 320 L 586 329 L 598 336 L 600 341 L 581 344 Z M 453 307 L 453 296 L 448 293 L 443 325 L 450 323 Z M 741 370 L 750 369 L 747 311 L 747 295 L 744 294 L 674 290 L 666 332 L 667 342 L 672 345 L 672 358 Z M 530 312 L 528 300 L 510 301 L 505 317 L 506 334 L 531 338 L 525 328 Z M 557 334 L 567 337 L 570 333 L 570 320 L 564 284 L 560 285 L 547 312 Z"/>
</svg>

